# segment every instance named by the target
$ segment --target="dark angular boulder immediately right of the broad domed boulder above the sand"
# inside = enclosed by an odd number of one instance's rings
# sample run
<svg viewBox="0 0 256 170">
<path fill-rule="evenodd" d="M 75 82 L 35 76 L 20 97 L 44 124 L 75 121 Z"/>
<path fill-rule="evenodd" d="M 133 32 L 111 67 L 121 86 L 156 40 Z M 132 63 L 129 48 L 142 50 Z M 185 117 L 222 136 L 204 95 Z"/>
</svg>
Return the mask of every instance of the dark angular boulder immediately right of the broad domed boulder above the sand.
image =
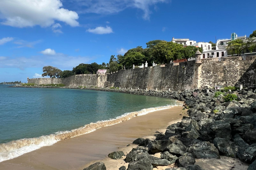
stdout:
<svg viewBox="0 0 256 170">
<path fill-rule="evenodd" d="M 236 153 L 238 152 L 238 146 L 236 146 L 233 142 L 216 137 L 213 140 L 214 146 L 218 149 L 220 155 L 224 155 L 227 157 L 236 157 Z"/>
</svg>

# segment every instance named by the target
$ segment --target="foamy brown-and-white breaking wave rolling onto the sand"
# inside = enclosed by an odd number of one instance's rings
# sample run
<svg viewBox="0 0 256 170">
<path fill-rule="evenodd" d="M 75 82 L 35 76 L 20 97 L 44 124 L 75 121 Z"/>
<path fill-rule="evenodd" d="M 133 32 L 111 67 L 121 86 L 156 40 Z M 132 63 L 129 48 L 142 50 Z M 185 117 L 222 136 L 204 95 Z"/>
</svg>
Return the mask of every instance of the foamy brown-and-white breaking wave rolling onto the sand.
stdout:
<svg viewBox="0 0 256 170">
<path fill-rule="evenodd" d="M 90 123 L 83 127 L 73 129 L 70 131 L 59 131 L 59 132 L 56 132 L 55 134 L 44 135 L 44 136 L 34 137 L 34 138 L 19 139 L 19 140 L 14 140 L 8 143 L 2 143 L 0 144 L 0 162 L 16 158 L 20 155 L 39 149 L 43 146 L 53 145 L 54 143 L 63 139 L 68 139 L 71 137 L 90 133 L 92 131 L 95 131 L 98 128 L 115 125 L 123 121 L 127 121 L 135 116 L 146 115 L 151 112 L 173 108 L 174 106 L 178 106 L 178 105 L 172 105 L 172 106 L 168 105 L 168 106 L 162 106 L 162 107 L 156 107 L 156 108 L 142 109 L 137 112 L 130 112 L 130 113 L 123 114 L 119 117 L 116 117 L 115 119 L 109 119 L 106 121 L 98 121 L 96 123 Z"/>
</svg>

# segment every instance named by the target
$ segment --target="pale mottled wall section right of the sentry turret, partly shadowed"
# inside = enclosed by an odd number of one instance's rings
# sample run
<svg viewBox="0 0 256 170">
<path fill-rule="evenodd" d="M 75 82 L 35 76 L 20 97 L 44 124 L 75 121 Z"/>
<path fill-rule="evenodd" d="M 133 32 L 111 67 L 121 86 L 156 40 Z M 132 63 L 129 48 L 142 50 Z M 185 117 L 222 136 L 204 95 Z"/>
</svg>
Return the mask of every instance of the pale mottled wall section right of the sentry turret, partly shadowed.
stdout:
<svg viewBox="0 0 256 170">
<path fill-rule="evenodd" d="M 256 56 L 225 57 L 222 61 L 215 58 L 202 59 L 199 87 L 239 86 L 249 87 L 255 84 Z"/>
</svg>

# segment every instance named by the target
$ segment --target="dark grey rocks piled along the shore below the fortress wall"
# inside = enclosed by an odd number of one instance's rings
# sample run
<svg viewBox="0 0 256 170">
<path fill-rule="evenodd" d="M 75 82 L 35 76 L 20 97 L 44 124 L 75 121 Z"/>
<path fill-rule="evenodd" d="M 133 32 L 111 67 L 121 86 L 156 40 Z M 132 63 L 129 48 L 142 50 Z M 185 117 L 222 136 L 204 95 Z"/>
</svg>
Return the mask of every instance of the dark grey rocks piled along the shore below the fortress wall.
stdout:
<svg viewBox="0 0 256 170">
<path fill-rule="evenodd" d="M 155 134 L 155 140 L 138 138 L 133 143 L 139 146 L 127 155 L 120 151 L 109 154 L 112 159 L 125 156 L 124 161 L 129 163 L 127 170 L 152 170 L 169 164 L 175 167 L 166 170 L 203 170 L 194 165 L 195 158 L 219 159 L 220 155 L 251 164 L 247 170 L 256 169 L 256 87 L 224 92 L 217 97 L 214 97 L 216 92 L 213 89 L 208 89 L 208 93 L 205 93 L 206 89 L 183 92 L 86 89 L 165 97 L 185 102 L 188 116 L 168 126 L 165 133 Z M 223 97 L 228 94 L 236 95 L 237 100 L 224 100 Z M 152 156 L 155 153 L 161 153 L 161 158 Z M 124 166 L 119 169 L 126 170 Z M 106 170 L 106 167 L 103 162 L 97 162 L 84 170 Z"/>
</svg>

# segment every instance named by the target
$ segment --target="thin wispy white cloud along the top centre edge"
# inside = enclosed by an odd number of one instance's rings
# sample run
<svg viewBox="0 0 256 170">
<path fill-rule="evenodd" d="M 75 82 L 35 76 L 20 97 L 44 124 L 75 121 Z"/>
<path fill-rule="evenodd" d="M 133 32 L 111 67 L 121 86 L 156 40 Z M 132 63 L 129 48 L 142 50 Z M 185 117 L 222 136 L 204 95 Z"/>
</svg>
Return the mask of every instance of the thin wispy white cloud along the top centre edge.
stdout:
<svg viewBox="0 0 256 170">
<path fill-rule="evenodd" d="M 96 14 L 113 14 L 125 10 L 126 8 L 137 8 L 144 12 L 143 18 L 150 19 L 150 6 L 171 0 L 73 0 L 81 7 L 81 13 L 96 13 Z"/>
</svg>

